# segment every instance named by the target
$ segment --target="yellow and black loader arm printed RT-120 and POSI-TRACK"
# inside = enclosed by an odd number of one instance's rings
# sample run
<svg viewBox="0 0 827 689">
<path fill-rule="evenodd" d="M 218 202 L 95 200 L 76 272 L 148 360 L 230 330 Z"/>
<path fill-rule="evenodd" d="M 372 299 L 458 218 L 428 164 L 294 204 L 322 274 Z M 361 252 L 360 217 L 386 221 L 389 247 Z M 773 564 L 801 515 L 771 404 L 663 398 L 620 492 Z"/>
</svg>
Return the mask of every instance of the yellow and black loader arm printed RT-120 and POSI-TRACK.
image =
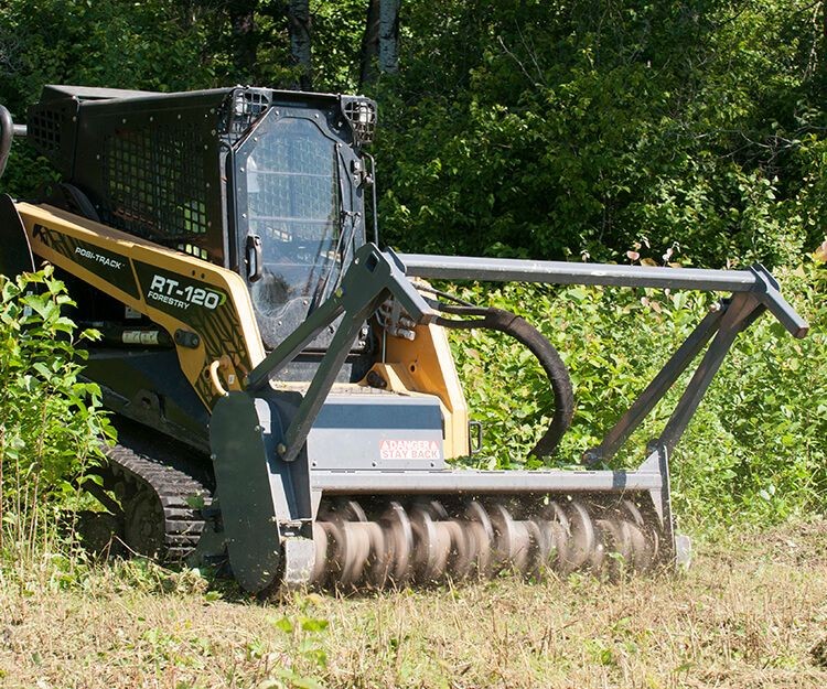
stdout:
<svg viewBox="0 0 827 689">
<path fill-rule="evenodd" d="M 32 251 L 147 315 L 173 338 L 181 369 L 212 409 L 265 357 L 235 272 L 52 206 L 17 205 Z M 211 375 L 212 368 L 212 375 Z"/>
</svg>

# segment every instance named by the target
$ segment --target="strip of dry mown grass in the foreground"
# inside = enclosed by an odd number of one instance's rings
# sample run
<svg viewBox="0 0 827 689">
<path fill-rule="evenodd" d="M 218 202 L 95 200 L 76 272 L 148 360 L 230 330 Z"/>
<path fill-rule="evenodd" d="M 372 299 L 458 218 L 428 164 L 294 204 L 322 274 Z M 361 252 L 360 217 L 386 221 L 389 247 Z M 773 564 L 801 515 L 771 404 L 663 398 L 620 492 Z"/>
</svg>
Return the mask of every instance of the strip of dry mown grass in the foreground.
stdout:
<svg viewBox="0 0 827 689">
<path fill-rule="evenodd" d="M 679 578 L 269 604 L 135 564 L 7 575 L 0 686 L 827 686 L 827 521 L 699 550 Z"/>
</svg>

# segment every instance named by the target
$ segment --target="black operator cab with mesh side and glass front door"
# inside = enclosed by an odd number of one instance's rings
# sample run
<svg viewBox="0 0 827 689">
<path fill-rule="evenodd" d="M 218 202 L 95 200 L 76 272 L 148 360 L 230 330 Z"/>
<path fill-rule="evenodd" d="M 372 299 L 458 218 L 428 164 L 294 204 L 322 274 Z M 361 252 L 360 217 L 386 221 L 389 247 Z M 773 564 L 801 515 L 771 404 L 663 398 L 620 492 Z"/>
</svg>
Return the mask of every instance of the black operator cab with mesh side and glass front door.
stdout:
<svg viewBox="0 0 827 689">
<path fill-rule="evenodd" d="M 61 172 L 42 201 L 238 272 L 272 349 L 365 243 L 375 123 L 361 96 L 46 86 L 29 138 Z M 114 300 L 94 301 L 96 317 L 117 319 Z"/>
</svg>

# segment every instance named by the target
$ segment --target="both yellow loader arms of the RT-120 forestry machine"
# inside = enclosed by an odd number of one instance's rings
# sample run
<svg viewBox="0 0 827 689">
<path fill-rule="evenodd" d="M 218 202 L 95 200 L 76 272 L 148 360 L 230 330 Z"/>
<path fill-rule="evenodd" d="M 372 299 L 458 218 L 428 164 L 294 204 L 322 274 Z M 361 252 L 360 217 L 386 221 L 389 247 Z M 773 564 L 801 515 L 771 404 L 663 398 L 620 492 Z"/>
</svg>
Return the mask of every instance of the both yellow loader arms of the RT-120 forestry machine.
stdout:
<svg viewBox="0 0 827 689">
<path fill-rule="evenodd" d="M 20 203 L 32 251 L 164 329 L 181 369 L 212 409 L 240 389 L 265 357 L 249 292 L 235 272 L 47 205 Z M 385 336 L 376 370 L 397 392 L 439 398 L 444 456 L 469 454 L 468 409 L 445 331 L 418 325 L 416 338 Z"/>
</svg>

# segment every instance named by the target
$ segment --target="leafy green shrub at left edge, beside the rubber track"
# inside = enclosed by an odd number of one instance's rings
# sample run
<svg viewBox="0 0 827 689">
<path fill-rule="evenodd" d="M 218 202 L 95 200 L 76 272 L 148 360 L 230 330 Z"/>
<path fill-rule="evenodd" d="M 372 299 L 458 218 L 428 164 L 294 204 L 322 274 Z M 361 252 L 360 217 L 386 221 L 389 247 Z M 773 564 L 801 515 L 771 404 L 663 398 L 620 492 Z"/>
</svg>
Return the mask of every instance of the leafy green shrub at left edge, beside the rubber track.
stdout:
<svg viewBox="0 0 827 689">
<path fill-rule="evenodd" d="M 14 281 L 0 276 L 0 292 L 1 549 L 32 546 L 42 506 L 74 496 L 66 480 L 99 455 L 111 433 L 98 387 L 80 378 L 85 352 L 62 315 L 73 302 L 52 269 Z"/>
</svg>

